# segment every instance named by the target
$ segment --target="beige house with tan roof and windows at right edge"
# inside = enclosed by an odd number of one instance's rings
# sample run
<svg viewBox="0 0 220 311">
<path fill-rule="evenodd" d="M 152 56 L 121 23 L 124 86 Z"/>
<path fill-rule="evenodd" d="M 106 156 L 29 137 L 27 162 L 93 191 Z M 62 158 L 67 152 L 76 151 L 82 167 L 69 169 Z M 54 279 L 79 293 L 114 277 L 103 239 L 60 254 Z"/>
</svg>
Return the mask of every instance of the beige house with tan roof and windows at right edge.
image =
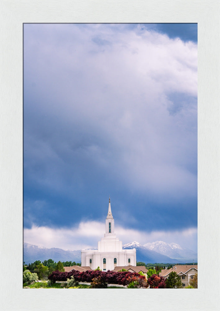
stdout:
<svg viewBox="0 0 220 311">
<path fill-rule="evenodd" d="M 193 279 L 195 273 L 198 274 L 198 265 L 176 265 L 170 269 L 163 269 L 160 272 L 160 276 L 163 276 L 165 279 L 168 278 L 170 272 L 176 272 L 182 281 L 182 286 L 188 286 L 189 281 Z"/>
</svg>

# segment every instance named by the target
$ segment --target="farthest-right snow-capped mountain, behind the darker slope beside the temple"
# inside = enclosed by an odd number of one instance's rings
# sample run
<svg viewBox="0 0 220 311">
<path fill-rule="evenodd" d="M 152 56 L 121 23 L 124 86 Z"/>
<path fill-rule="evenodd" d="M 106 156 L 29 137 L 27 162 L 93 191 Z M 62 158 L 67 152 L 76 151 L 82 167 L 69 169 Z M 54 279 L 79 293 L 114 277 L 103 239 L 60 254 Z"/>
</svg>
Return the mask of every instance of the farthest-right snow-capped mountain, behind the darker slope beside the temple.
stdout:
<svg viewBox="0 0 220 311">
<path fill-rule="evenodd" d="M 188 248 L 181 247 L 176 243 L 166 243 L 163 241 L 156 241 L 153 243 L 146 243 L 143 245 L 145 248 L 153 250 L 157 253 L 166 255 L 170 258 L 186 261 L 197 261 L 197 253 Z"/>
</svg>

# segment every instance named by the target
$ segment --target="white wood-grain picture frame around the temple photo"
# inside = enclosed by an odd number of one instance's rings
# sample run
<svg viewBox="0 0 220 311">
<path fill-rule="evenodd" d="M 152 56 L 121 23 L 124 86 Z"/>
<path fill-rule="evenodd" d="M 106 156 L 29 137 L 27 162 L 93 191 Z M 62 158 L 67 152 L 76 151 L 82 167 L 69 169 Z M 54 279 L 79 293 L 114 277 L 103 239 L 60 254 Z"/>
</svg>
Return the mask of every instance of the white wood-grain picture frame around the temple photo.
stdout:
<svg viewBox="0 0 220 311">
<path fill-rule="evenodd" d="M 2 0 L 1 310 L 219 310 L 220 2 Z M 198 289 L 27 290 L 23 249 L 23 23 L 198 23 Z"/>
</svg>

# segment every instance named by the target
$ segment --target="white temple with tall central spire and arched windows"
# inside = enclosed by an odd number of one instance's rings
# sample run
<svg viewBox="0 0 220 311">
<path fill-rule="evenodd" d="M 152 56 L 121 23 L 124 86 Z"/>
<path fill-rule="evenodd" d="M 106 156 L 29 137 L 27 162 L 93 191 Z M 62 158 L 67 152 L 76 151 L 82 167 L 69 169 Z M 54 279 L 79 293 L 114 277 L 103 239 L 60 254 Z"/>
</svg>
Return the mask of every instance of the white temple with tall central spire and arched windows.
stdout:
<svg viewBox="0 0 220 311">
<path fill-rule="evenodd" d="M 81 265 L 91 269 L 100 267 L 102 271 L 114 270 L 117 266 L 136 266 L 136 249 L 122 249 L 122 241 L 114 233 L 110 198 L 104 238 L 98 242 L 98 249 L 81 250 Z"/>
</svg>

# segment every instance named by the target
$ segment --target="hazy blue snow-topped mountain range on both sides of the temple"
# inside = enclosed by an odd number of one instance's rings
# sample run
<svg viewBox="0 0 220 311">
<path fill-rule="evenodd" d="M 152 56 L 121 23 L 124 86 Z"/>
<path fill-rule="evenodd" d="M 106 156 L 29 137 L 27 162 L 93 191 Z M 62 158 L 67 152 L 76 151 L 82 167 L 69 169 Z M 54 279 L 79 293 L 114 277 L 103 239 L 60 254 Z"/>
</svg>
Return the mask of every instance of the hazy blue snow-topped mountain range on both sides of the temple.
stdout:
<svg viewBox="0 0 220 311">
<path fill-rule="evenodd" d="M 168 244 L 163 241 L 141 245 L 134 241 L 123 245 L 123 249 L 136 248 L 137 262 L 145 263 L 185 263 L 197 262 L 197 253 L 178 244 Z M 95 248 L 93 248 L 95 249 Z M 43 246 L 24 243 L 23 261 L 28 264 L 36 260 L 52 259 L 55 262 L 81 262 L 81 250 L 64 250 L 61 248 L 46 248 Z"/>
</svg>

